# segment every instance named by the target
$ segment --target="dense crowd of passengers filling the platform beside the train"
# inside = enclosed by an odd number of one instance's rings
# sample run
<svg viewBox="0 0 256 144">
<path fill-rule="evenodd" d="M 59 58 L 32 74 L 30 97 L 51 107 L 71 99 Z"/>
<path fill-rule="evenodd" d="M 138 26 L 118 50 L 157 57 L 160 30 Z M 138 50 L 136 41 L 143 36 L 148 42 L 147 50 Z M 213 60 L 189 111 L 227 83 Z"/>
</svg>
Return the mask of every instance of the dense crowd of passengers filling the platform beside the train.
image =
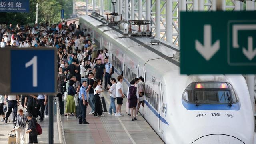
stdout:
<svg viewBox="0 0 256 144">
<path fill-rule="evenodd" d="M 35 24 L 17 26 L 0 26 L 0 47 L 54 47 L 57 49 L 58 65 L 58 100 L 60 103 L 66 101 L 64 115 L 67 118 L 79 118 L 79 124 L 89 124 L 86 120 L 86 110 L 90 106 L 94 117 L 104 116 L 104 112 L 123 116 L 121 106 L 123 104 L 124 90 L 122 86 L 122 75 L 117 79 L 112 75 L 114 68 L 109 62 L 108 50 L 98 50 L 86 29 L 81 24 L 76 26 L 75 22 L 67 25 L 65 21 L 59 24 Z M 104 87 L 103 87 L 104 78 Z M 106 102 L 102 92 L 108 91 L 110 96 L 110 107 L 107 110 Z M 135 78 L 130 82 L 126 95 L 129 102 L 128 114 L 132 121 L 137 120 L 140 104 L 144 107 L 144 79 Z M 23 109 L 18 110 L 20 104 Z M 117 106 L 115 105 L 117 101 Z M 37 120 L 44 121 L 48 116 L 47 95 L 0 95 L 1 122 L 8 122 L 13 113 L 12 122 L 16 131 L 17 142 L 21 138 L 24 143 L 25 122 L 29 124 L 29 143 L 37 143 L 37 132 L 35 124 Z M 7 105 L 7 113 L 4 107 Z M 25 111 L 26 110 L 26 111 Z M 62 111 L 62 110 L 61 110 Z M 126 110 L 127 111 L 127 110 Z M 19 114 L 17 115 L 17 112 Z M 26 112 L 26 116 L 24 116 Z M 39 118 L 38 118 L 39 116 Z M 38 119 L 37 119 L 38 118 Z M 28 122 L 28 120 L 30 122 Z M 20 126 L 17 128 L 17 126 Z"/>
</svg>

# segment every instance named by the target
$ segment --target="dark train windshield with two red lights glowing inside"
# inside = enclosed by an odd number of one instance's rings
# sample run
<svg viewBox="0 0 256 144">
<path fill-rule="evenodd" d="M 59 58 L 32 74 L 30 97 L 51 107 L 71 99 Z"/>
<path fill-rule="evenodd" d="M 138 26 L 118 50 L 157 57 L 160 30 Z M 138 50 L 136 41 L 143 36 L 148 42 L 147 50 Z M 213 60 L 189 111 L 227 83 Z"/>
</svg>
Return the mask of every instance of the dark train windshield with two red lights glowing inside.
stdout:
<svg viewBox="0 0 256 144">
<path fill-rule="evenodd" d="M 234 104 L 238 97 L 231 84 L 226 82 L 194 82 L 182 98 L 195 104 Z"/>
</svg>

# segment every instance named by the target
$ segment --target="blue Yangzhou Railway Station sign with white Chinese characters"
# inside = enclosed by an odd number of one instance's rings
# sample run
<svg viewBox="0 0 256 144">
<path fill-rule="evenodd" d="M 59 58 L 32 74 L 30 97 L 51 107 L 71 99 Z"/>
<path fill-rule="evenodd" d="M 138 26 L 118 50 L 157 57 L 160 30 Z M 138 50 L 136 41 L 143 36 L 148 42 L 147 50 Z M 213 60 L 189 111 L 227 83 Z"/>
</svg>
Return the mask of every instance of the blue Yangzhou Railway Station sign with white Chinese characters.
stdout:
<svg viewBox="0 0 256 144">
<path fill-rule="evenodd" d="M 0 0 L 0 12 L 29 12 L 29 0 Z"/>
</svg>

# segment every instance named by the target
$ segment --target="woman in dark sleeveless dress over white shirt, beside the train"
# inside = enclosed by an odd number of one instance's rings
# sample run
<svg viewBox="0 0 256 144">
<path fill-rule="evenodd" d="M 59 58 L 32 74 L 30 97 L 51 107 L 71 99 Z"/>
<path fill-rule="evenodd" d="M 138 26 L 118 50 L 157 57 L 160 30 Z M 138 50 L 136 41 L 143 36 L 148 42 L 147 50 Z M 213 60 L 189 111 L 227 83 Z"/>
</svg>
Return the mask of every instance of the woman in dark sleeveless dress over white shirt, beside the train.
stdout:
<svg viewBox="0 0 256 144">
<path fill-rule="evenodd" d="M 128 103 L 129 103 L 129 108 L 131 110 L 132 121 L 133 121 L 133 116 L 134 116 L 134 120 L 137 120 L 137 118 L 136 118 L 136 106 L 139 102 L 138 88 L 136 88 L 134 84 L 135 84 L 135 81 L 132 80 L 130 82 L 131 86 L 127 90 Z"/>
</svg>

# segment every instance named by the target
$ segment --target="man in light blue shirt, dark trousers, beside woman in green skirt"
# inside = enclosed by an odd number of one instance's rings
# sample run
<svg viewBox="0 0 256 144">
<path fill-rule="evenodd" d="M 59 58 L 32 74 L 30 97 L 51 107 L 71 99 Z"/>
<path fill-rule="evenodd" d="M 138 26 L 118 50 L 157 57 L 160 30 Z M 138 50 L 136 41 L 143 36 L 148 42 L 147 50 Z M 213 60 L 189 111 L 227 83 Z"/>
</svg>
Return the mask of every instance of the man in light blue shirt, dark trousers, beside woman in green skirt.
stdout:
<svg viewBox="0 0 256 144">
<path fill-rule="evenodd" d="M 86 86 L 87 86 L 87 82 L 83 81 L 83 85 L 79 90 L 79 106 L 80 106 L 80 111 L 82 114 L 82 115 L 80 115 L 80 118 L 79 118 L 79 124 L 89 124 L 89 122 L 87 122 L 85 119 L 86 108 L 88 106 L 86 90 L 85 90 Z"/>
</svg>

